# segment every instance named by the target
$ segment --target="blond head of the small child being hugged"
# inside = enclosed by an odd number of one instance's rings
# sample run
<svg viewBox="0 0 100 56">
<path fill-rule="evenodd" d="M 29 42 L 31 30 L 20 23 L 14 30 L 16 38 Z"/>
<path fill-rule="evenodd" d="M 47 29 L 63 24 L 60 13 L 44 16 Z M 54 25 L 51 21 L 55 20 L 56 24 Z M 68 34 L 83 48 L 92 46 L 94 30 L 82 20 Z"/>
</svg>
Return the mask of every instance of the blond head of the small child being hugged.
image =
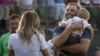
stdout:
<svg viewBox="0 0 100 56">
<path fill-rule="evenodd" d="M 83 19 L 85 19 L 87 21 L 90 19 L 90 13 L 85 8 L 79 9 L 76 16 L 81 17 L 81 18 L 83 18 Z"/>
</svg>

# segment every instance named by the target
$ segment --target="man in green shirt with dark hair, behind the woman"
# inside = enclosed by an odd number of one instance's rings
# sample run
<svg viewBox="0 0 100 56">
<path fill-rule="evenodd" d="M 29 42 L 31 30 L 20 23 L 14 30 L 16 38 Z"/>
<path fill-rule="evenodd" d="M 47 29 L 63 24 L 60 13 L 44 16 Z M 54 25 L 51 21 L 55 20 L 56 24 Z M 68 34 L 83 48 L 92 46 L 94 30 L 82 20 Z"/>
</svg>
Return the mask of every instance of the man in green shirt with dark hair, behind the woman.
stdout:
<svg viewBox="0 0 100 56">
<path fill-rule="evenodd" d="M 19 15 L 11 15 L 7 21 L 9 32 L 5 33 L 0 38 L 0 56 L 8 56 L 8 39 L 11 33 L 15 33 L 20 21 Z"/>
</svg>

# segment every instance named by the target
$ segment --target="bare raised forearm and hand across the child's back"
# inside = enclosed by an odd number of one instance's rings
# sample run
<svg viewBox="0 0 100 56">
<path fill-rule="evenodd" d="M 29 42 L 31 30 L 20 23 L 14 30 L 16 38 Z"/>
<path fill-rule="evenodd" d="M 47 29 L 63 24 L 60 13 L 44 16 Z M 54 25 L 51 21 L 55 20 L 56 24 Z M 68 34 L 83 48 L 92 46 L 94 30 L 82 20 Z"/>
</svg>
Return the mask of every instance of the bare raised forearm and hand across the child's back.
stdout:
<svg viewBox="0 0 100 56">
<path fill-rule="evenodd" d="M 69 27 L 66 27 L 62 33 L 53 37 L 53 44 L 55 45 L 55 47 L 60 48 L 62 44 L 65 43 L 65 41 L 68 39 L 73 30 L 80 29 L 82 27 L 82 24 L 80 24 L 79 22 L 71 24 Z"/>
</svg>

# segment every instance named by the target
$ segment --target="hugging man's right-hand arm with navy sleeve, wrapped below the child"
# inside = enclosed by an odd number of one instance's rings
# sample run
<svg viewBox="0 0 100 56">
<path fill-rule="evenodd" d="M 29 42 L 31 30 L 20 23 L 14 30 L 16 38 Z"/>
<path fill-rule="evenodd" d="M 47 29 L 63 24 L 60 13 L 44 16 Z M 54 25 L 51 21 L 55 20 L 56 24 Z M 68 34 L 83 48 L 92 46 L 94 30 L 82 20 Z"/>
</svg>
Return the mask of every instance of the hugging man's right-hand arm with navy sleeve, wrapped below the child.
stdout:
<svg viewBox="0 0 100 56">
<path fill-rule="evenodd" d="M 74 45 L 66 45 L 62 49 L 72 53 L 86 52 L 92 40 L 92 35 L 89 29 L 85 29 L 80 42 Z"/>
</svg>

